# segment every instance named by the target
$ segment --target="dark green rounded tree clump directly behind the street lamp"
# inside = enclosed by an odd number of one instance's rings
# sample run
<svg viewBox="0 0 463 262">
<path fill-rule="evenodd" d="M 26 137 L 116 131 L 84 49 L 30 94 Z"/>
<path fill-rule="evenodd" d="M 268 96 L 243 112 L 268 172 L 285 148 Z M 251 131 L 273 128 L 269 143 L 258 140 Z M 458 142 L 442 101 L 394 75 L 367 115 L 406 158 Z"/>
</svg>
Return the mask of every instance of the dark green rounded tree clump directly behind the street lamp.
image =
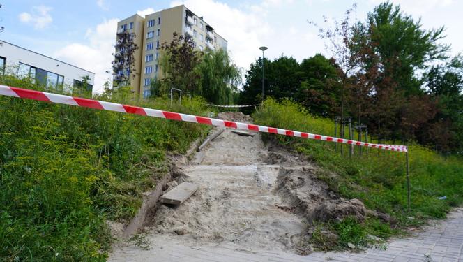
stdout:
<svg viewBox="0 0 463 262">
<path fill-rule="evenodd" d="M 273 61 L 257 59 L 246 73 L 241 92 L 241 104 L 261 101 L 262 62 L 265 63 L 264 97 L 292 99 L 303 104 L 316 115 L 332 117 L 338 108 L 340 85 L 334 61 L 321 54 L 303 59 L 278 57 Z"/>
</svg>

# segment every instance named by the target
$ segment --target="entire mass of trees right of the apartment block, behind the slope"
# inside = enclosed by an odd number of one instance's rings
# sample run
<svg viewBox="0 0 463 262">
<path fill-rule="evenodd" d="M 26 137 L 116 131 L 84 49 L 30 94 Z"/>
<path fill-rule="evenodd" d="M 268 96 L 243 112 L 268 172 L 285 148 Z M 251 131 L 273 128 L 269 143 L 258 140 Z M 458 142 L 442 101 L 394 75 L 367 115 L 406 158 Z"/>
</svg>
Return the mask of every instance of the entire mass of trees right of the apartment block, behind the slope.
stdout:
<svg viewBox="0 0 463 262">
<path fill-rule="evenodd" d="M 264 96 L 301 103 L 322 117 L 354 117 L 383 139 L 416 140 L 443 152 L 462 152 L 463 59 L 450 58 L 444 27 L 425 29 L 400 6 L 381 3 L 365 21 L 344 18 L 319 27 L 331 58 L 298 63 L 257 59 L 246 72 L 240 103 Z"/>
</svg>

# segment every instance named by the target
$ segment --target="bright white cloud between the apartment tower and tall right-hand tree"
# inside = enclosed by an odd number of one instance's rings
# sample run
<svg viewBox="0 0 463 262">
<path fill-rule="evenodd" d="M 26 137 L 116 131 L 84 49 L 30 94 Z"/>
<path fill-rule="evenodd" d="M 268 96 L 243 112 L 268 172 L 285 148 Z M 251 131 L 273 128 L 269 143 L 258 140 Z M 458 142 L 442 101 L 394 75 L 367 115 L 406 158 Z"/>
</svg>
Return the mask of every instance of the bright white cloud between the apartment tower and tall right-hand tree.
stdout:
<svg viewBox="0 0 463 262">
<path fill-rule="evenodd" d="M 232 8 L 220 0 L 174 0 L 171 6 L 185 4 L 228 41 L 228 50 L 238 66 L 247 70 L 262 55 L 259 47 L 266 45 L 265 56 L 271 59 L 281 54 L 301 60 L 323 52 L 324 44 L 310 34 L 307 17 L 282 14 L 294 5 L 308 3 L 294 0 L 253 1 L 251 5 Z M 283 12 L 284 12 L 283 11 Z M 280 16 L 275 16 L 280 15 Z"/>
</svg>

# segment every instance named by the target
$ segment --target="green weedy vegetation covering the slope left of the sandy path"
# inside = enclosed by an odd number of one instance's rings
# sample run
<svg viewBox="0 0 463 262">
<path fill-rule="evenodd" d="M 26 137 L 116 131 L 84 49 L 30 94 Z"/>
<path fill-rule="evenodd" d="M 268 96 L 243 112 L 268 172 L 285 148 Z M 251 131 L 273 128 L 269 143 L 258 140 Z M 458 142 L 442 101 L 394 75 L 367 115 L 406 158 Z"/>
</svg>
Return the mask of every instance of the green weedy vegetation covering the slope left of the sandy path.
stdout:
<svg viewBox="0 0 463 262">
<path fill-rule="evenodd" d="M 43 89 L 10 76 L 0 84 Z M 57 92 L 57 90 L 48 90 Z M 129 93 L 96 99 L 135 104 Z M 202 101 L 144 106 L 199 114 Z M 105 220 L 126 221 L 208 127 L 0 96 L 0 261 L 105 261 Z"/>
</svg>

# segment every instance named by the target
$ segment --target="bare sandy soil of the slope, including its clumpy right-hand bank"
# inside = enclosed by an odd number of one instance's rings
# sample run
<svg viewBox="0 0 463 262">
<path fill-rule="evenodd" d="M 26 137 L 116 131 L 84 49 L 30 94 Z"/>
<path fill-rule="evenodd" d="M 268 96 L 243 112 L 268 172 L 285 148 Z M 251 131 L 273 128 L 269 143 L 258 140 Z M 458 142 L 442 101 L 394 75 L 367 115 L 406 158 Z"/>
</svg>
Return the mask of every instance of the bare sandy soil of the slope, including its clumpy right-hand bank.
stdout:
<svg viewBox="0 0 463 262">
<path fill-rule="evenodd" d="M 259 134 L 225 130 L 203 151 L 190 166 L 180 167 L 185 175 L 177 177 L 199 184 L 199 190 L 178 207 L 158 209 L 146 228 L 151 245 L 170 239 L 176 245 L 234 245 L 251 252 L 310 252 L 304 233 L 308 212 L 337 199 L 315 177 L 316 167 L 297 154 L 266 147 Z M 117 247 L 110 261 L 131 249 L 137 247 Z"/>
</svg>

